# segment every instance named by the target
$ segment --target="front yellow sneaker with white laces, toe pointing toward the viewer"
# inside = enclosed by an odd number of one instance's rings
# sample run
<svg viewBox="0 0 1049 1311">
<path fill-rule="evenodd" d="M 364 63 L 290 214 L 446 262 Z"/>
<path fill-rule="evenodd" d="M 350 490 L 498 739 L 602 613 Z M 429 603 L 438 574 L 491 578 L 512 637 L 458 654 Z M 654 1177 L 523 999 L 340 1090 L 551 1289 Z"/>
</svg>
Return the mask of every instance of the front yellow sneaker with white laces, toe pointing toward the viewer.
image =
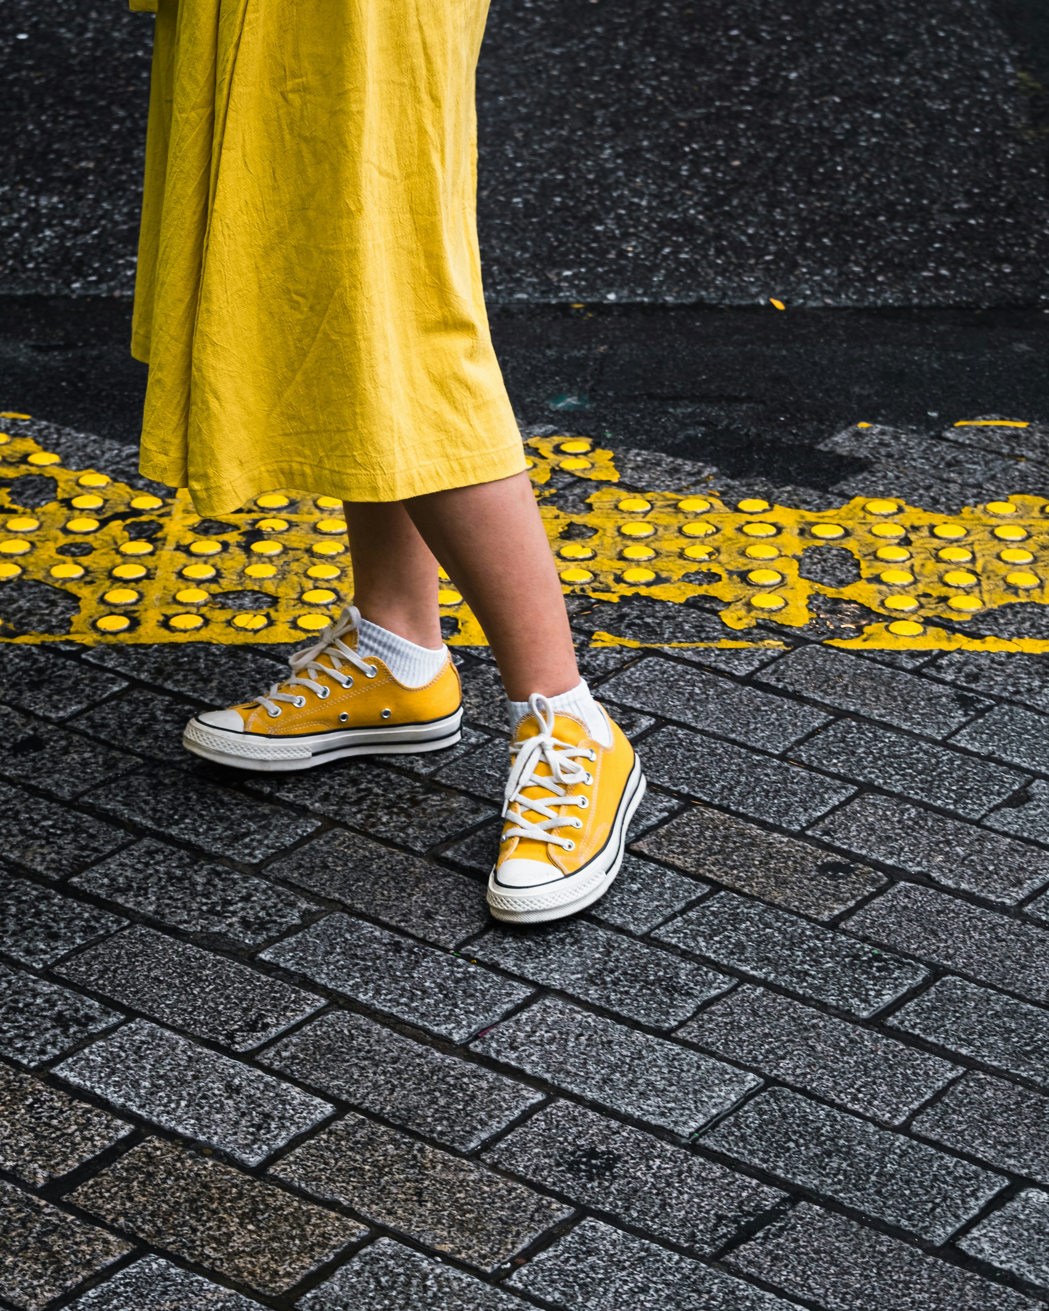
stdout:
<svg viewBox="0 0 1049 1311">
<path fill-rule="evenodd" d="M 616 724 L 608 720 L 612 745 L 602 746 L 574 716 L 555 716 L 545 697 L 531 696 L 528 707 L 510 747 L 500 857 L 488 880 L 492 914 L 515 924 L 574 915 L 603 897 L 645 794 L 641 762 Z"/>
</svg>

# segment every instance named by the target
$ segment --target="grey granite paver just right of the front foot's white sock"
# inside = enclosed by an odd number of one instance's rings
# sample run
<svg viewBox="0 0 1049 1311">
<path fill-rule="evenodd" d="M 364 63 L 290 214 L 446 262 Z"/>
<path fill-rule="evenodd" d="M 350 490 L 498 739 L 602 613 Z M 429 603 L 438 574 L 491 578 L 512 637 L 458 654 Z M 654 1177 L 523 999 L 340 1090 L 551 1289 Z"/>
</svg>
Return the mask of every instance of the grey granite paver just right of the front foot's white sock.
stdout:
<svg viewBox="0 0 1049 1311">
<path fill-rule="evenodd" d="M 660 658 L 631 665 L 602 684 L 601 691 L 624 705 L 766 751 L 783 751 L 830 722 L 829 714 L 812 705 Z"/>
</svg>

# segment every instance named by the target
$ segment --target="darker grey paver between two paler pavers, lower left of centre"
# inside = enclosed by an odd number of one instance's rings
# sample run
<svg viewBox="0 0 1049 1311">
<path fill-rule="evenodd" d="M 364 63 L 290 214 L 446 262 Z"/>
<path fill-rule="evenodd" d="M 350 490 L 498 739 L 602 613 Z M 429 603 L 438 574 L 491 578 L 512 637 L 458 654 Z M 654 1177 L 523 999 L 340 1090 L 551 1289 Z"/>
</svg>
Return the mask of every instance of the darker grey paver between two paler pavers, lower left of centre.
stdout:
<svg viewBox="0 0 1049 1311">
<path fill-rule="evenodd" d="M 264 1065 L 425 1138 L 472 1151 L 542 1093 L 337 1011 L 261 1053 Z"/>
</svg>

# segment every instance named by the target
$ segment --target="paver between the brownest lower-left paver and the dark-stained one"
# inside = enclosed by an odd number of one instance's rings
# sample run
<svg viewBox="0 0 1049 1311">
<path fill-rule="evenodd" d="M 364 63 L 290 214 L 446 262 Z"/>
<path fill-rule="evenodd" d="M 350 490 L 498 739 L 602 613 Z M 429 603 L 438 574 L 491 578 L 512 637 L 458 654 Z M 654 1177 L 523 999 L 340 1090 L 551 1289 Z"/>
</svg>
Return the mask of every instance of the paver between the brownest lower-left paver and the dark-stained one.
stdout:
<svg viewBox="0 0 1049 1311">
<path fill-rule="evenodd" d="M 481 1270 L 493 1270 L 570 1214 L 476 1162 L 353 1113 L 270 1173 Z"/>
</svg>

